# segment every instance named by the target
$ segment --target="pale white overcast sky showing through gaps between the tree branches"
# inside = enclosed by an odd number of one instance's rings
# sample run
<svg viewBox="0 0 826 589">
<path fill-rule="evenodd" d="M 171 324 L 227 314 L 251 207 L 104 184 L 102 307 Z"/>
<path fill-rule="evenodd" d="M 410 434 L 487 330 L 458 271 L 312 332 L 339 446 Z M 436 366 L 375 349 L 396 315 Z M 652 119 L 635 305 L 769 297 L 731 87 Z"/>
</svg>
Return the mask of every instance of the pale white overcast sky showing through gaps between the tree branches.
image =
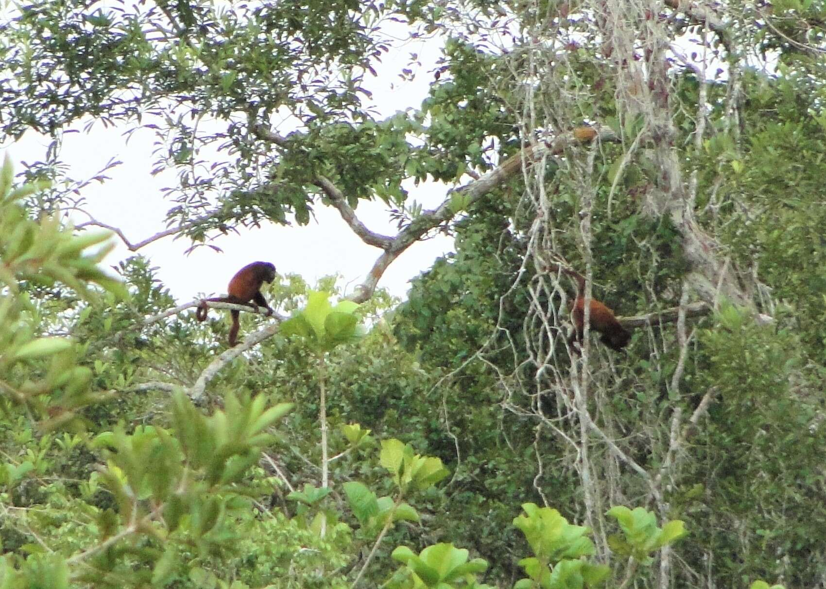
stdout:
<svg viewBox="0 0 826 589">
<path fill-rule="evenodd" d="M 428 70 L 438 59 L 441 46 L 438 40 L 433 39 L 408 42 L 382 59 L 382 64 L 376 68 L 377 78 L 365 84 L 373 92 L 372 106 L 382 116 L 420 106 L 432 81 Z M 413 82 L 404 82 L 396 74 L 402 67 L 408 67 L 411 53 L 419 54 L 422 65 L 415 68 Z M 81 129 L 82 125 L 76 128 Z M 170 204 L 164 201 L 160 189 L 172 185 L 175 179 L 171 174 L 150 175 L 154 141 L 151 131 L 135 132 L 127 144 L 124 130 L 104 129 L 98 124 L 89 134 L 65 134 L 59 157 L 69 165 L 69 177 L 78 180 L 93 176 L 110 158 L 122 162 L 121 166 L 107 172 L 112 180 L 84 188 L 83 196 L 87 199 L 86 210 L 90 214 L 102 223 L 120 228 L 126 238 L 135 243 L 165 229 L 164 214 Z M 9 153 L 16 164 L 15 171 L 20 172 L 20 162 L 42 159 L 49 143 L 49 138 L 30 132 L 15 144 L 3 144 L 2 150 Z M 444 185 L 430 183 L 422 183 L 418 187 L 411 183 L 406 188 L 411 198 L 425 208 L 438 205 L 446 191 Z M 382 203 L 360 201 L 356 212 L 369 229 L 388 235 L 396 233 L 395 225 L 389 222 Z M 198 247 L 185 256 L 189 241 L 168 237 L 151 243 L 139 253 L 149 257 L 153 266 L 159 267 L 157 276 L 180 302 L 202 293 L 225 293 L 235 271 L 256 260 L 273 262 L 280 273 L 298 273 L 311 282 L 320 276 L 339 273 L 343 276 L 340 284 L 348 285 L 347 290 L 351 292 L 355 285 L 364 280 L 381 252 L 356 237 L 338 211 L 319 206 L 315 214 L 316 219 L 311 219 L 310 224 L 304 227 L 262 225 L 261 229 L 230 233 L 211 242 L 221 247 L 223 252 Z M 87 219 L 77 215 L 74 220 L 81 223 Z M 132 255 L 119 239 L 117 243 L 118 247 L 107 257 L 107 263 L 113 264 Z M 379 286 L 396 296 L 405 296 L 410 287 L 408 281 L 452 248 L 453 240 L 442 234 L 415 243 L 392 263 Z"/>
</svg>

